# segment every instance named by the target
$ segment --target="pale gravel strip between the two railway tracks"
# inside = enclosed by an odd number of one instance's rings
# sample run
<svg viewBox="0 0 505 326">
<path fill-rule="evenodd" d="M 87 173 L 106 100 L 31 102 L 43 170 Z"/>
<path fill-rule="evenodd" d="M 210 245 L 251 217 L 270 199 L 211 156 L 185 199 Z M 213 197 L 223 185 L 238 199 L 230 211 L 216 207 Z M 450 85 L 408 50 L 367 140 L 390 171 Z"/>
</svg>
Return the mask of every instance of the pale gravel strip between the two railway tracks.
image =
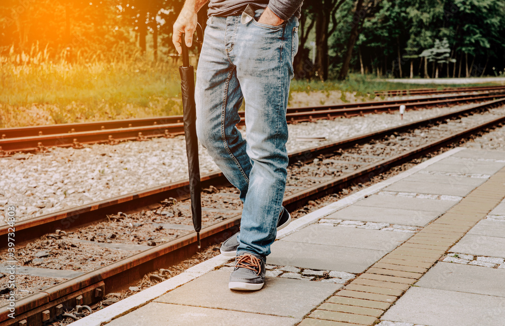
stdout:
<svg viewBox="0 0 505 326">
<path fill-rule="evenodd" d="M 475 103 L 288 125 L 289 152 L 331 143 L 403 123 L 462 110 Z M 245 130 L 241 130 L 245 134 Z M 322 136 L 324 141 L 300 141 Z M 298 139 L 298 140 L 297 140 Z M 200 145 L 200 172 L 219 171 Z M 183 136 L 95 144 L 82 149 L 51 148 L 43 154 L 0 158 L 0 205 L 16 205 L 17 221 L 54 213 L 187 178 Z M 5 212 L 0 210 L 5 224 Z"/>
</svg>

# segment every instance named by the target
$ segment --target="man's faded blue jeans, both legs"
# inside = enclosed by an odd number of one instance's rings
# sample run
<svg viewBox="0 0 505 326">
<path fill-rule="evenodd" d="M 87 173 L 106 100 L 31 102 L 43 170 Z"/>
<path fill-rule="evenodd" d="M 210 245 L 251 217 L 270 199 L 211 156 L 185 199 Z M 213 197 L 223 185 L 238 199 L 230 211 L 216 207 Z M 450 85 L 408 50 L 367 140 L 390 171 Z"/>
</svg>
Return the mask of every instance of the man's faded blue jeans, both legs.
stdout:
<svg viewBox="0 0 505 326">
<path fill-rule="evenodd" d="M 211 16 L 196 70 L 196 130 L 243 202 L 237 254 L 270 254 L 286 187 L 286 106 L 298 19 L 280 26 Z M 238 131 L 245 99 L 247 141 Z"/>
</svg>

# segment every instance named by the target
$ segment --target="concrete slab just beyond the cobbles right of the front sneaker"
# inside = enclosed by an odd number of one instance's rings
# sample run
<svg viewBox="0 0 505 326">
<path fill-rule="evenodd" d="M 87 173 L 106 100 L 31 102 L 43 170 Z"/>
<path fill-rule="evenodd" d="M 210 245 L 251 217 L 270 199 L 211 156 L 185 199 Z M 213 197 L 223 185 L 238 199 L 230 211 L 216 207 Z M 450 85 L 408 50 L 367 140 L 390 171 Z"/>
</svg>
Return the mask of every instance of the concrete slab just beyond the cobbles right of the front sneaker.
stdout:
<svg viewBox="0 0 505 326">
<path fill-rule="evenodd" d="M 388 251 L 328 246 L 292 241 L 275 241 L 267 263 L 311 269 L 363 273 Z"/>
</svg>

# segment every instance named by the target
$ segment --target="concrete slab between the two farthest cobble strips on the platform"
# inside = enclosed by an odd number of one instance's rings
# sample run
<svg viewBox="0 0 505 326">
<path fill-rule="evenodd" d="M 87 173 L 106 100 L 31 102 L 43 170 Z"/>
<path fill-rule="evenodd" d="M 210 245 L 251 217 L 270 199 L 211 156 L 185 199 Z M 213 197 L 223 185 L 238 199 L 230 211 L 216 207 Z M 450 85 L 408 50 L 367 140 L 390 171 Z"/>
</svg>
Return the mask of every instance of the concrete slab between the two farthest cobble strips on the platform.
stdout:
<svg viewBox="0 0 505 326">
<path fill-rule="evenodd" d="M 449 172 L 461 174 L 487 174 L 492 175 L 498 172 L 505 166 L 505 162 L 493 161 L 477 161 L 470 159 L 461 159 L 455 157 L 447 157 L 439 162 L 436 162 L 425 171 Z"/>
</svg>

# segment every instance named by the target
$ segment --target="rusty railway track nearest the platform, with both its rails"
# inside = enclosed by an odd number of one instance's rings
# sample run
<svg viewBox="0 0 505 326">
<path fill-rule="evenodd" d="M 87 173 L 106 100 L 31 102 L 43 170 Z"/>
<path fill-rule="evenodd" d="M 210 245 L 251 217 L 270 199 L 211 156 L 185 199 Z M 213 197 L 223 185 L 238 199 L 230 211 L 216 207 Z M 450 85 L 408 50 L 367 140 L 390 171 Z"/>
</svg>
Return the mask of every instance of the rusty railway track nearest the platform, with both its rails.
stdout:
<svg viewBox="0 0 505 326">
<path fill-rule="evenodd" d="M 308 200 L 333 193 L 352 183 L 365 182 L 423 153 L 501 124 L 505 122 L 505 114 L 498 112 L 499 115 L 496 115 L 494 111 L 489 110 L 504 104 L 503 98 L 493 100 L 458 112 L 291 153 L 289 175 L 294 177 L 288 179 L 284 205 L 288 209 L 296 208 Z M 478 114 L 483 111 L 486 112 L 484 115 Z M 463 118 L 466 116 L 468 117 Z M 479 123 L 468 128 L 460 128 L 464 119 L 474 118 L 479 120 Z M 440 125 L 437 125 L 437 122 Z M 454 126 L 448 128 L 449 125 Z M 443 129 L 441 126 L 446 126 L 447 130 L 440 131 Z M 424 131 L 422 128 L 425 128 Z M 399 145 L 391 144 L 394 141 Z M 405 143 L 402 145 L 401 141 Z M 394 154 L 384 155 L 380 151 L 384 151 L 388 146 L 397 146 L 392 151 Z M 306 164 L 309 162 L 313 165 Z M 226 179 L 220 173 L 203 177 L 204 188 L 226 187 L 226 185 Z M 159 203 L 169 197 L 186 199 L 188 197 L 187 181 L 20 222 L 16 224 L 17 245 L 32 242 L 33 239 L 47 233 L 62 237 L 63 233 L 58 231 L 55 233 L 55 230 L 70 233 L 78 227 L 104 220 L 107 215 L 113 215 L 115 220 L 119 220 L 122 213 L 118 212 L 129 213 L 138 211 L 139 207 L 147 209 L 153 205 L 160 207 Z M 236 214 L 219 222 L 210 221 L 207 225 L 204 224 L 201 232 L 203 245 L 219 243 L 226 239 L 236 231 L 239 222 L 240 215 Z M 8 228 L 1 227 L 0 238 L 5 240 L 2 243 L 7 243 L 7 234 Z M 158 268 L 166 268 L 187 258 L 197 250 L 195 241 L 195 234 L 188 231 L 171 241 L 160 243 L 76 278 L 45 288 L 16 302 L 18 316 L 15 319 L 7 317 L 9 313 L 7 306 L 0 307 L 0 322 L 11 325 L 26 320 L 26 324 L 38 325 L 54 319 L 68 307 L 99 301 L 106 292 L 122 289 L 146 273 Z"/>
</svg>

